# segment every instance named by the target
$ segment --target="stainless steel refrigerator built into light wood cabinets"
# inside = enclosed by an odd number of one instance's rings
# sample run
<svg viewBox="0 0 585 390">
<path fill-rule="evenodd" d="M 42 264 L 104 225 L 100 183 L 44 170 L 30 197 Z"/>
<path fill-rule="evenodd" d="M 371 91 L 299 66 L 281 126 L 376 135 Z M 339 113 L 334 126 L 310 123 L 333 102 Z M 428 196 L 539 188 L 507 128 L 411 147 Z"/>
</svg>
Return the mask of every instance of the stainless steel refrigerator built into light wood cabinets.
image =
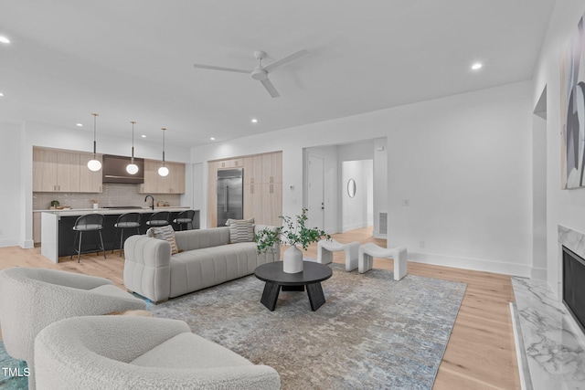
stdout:
<svg viewBox="0 0 585 390">
<path fill-rule="evenodd" d="M 228 219 L 244 217 L 244 170 L 242 168 L 218 171 L 218 227 Z"/>
</svg>

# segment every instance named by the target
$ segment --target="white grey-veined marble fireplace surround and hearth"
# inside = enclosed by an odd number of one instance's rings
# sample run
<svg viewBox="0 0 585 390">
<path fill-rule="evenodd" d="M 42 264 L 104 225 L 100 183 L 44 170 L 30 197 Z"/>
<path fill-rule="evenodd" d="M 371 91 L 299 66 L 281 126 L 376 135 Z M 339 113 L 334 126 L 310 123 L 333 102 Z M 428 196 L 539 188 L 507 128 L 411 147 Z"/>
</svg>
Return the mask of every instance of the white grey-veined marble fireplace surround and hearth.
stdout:
<svg viewBox="0 0 585 390">
<path fill-rule="evenodd" d="M 512 278 L 511 310 L 523 389 L 585 388 L 585 334 L 562 302 L 562 246 L 585 258 L 585 235 L 558 226 L 558 294 L 544 280 Z"/>
</svg>

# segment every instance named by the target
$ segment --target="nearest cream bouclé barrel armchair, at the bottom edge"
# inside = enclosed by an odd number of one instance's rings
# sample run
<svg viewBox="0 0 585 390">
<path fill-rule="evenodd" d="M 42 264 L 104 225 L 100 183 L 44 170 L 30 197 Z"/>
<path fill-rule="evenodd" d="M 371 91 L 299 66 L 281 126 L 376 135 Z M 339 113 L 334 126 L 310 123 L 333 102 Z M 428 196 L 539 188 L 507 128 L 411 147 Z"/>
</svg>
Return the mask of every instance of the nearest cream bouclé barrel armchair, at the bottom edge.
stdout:
<svg viewBox="0 0 585 390">
<path fill-rule="evenodd" d="M 279 374 L 194 334 L 184 321 L 89 316 L 35 342 L 38 390 L 276 390 Z"/>
</svg>

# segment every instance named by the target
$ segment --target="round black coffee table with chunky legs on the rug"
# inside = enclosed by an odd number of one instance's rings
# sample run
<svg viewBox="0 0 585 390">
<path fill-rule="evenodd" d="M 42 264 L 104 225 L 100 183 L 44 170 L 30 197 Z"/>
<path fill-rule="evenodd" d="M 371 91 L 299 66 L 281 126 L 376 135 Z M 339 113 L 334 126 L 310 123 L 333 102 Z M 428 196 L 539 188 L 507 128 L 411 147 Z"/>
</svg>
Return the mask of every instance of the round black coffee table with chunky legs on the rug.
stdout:
<svg viewBox="0 0 585 390">
<path fill-rule="evenodd" d="M 306 286 L 311 310 L 316 311 L 325 302 L 321 282 L 331 278 L 333 271 L 323 264 L 303 261 L 303 272 L 285 273 L 282 271 L 282 261 L 275 261 L 262 264 L 254 270 L 254 275 L 266 282 L 260 301 L 268 310 L 274 311 L 281 289 L 282 291 L 304 291 Z"/>
</svg>

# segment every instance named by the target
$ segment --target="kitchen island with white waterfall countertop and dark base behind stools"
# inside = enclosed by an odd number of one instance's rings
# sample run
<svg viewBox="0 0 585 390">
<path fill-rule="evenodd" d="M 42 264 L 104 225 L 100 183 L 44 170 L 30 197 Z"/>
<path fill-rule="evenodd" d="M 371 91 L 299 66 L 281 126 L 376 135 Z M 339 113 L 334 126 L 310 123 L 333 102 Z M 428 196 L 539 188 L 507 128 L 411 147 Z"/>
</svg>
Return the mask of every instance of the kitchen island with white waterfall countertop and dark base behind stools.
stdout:
<svg viewBox="0 0 585 390">
<path fill-rule="evenodd" d="M 150 207 L 140 207 L 140 208 L 88 208 L 88 209 L 69 209 L 69 210 L 49 210 L 43 211 L 41 213 L 41 254 L 48 258 L 49 260 L 53 261 L 54 263 L 58 263 L 58 258 L 63 256 L 70 256 L 76 254 L 75 248 L 73 247 L 73 241 L 75 239 L 75 231 L 73 230 L 73 226 L 75 225 L 75 221 L 80 216 L 85 216 L 88 214 L 101 214 L 106 217 L 105 225 L 101 229 L 101 235 L 103 237 L 103 245 L 107 250 L 112 250 L 112 248 L 118 248 L 120 245 L 120 236 L 116 236 L 116 234 L 120 234 L 116 232 L 116 227 L 114 224 L 118 220 L 118 216 L 126 213 L 140 213 L 143 215 L 142 224 L 139 228 L 140 233 L 144 234 L 148 229 L 146 225 L 146 221 L 152 216 L 154 213 L 158 211 L 168 211 L 171 213 L 170 220 L 176 218 L 176 216 L 185 210 L 188 210 L 189 207 L 154 207 L 154 210 Z M 199 210 L 195 210 L 196 215 L 193 220 L 193 227 L 199 228 Z M 171 224 L 176 230 L 179 227 L 176 224 Z M 133 229 L 126 229 L 124 230 L 124 237 L 126 234 L 130 236 Z M 135 231 L 134 231 L 135 234 Z M 116 238 L 117 237 L 117 238 Z M 93 237 L 88 236 L 87 242 L 84 239 L 83 248 L 86 248 L 85 243 L 87 243 L 87 248 L 94 248 L 94 240 Z M 84 250 L 82 248 L 82 250 Z"/>
</svg>

